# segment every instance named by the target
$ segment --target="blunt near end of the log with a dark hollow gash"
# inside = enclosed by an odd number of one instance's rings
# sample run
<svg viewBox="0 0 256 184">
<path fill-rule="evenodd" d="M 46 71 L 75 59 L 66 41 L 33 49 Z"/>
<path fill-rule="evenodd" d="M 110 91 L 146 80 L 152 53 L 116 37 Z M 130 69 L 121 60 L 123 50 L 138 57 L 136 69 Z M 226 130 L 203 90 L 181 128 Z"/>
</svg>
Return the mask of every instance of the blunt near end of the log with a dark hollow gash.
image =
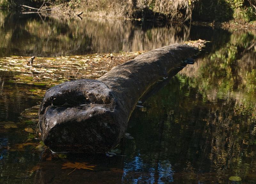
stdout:
<svg viewBox="0 0 256 184">
<path fill-rule="evenodd" d="M 52 87 L 39 109 L 42 139 L 53 152 L 105 152 L 118 144 L 126 121 L 115 93 L 98 80 Z"/>
</svg>

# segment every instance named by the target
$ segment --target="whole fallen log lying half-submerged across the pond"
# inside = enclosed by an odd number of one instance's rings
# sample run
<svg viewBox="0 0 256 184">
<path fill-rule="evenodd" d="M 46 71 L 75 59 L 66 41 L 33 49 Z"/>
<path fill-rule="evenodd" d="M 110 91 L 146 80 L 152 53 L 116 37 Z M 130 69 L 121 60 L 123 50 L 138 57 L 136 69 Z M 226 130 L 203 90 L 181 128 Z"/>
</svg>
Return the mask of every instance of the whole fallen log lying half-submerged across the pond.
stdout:
<svg viewBox="0 0 256 184">
<path fill-rule="evenodd" d="M 50 88 L 39 109 L 44 144 L 53 152 L 105 152 L 124 136 L 139 98 L 198 49 L 173 44 L 118 65 L 98 80 Z"/>
</svg>

